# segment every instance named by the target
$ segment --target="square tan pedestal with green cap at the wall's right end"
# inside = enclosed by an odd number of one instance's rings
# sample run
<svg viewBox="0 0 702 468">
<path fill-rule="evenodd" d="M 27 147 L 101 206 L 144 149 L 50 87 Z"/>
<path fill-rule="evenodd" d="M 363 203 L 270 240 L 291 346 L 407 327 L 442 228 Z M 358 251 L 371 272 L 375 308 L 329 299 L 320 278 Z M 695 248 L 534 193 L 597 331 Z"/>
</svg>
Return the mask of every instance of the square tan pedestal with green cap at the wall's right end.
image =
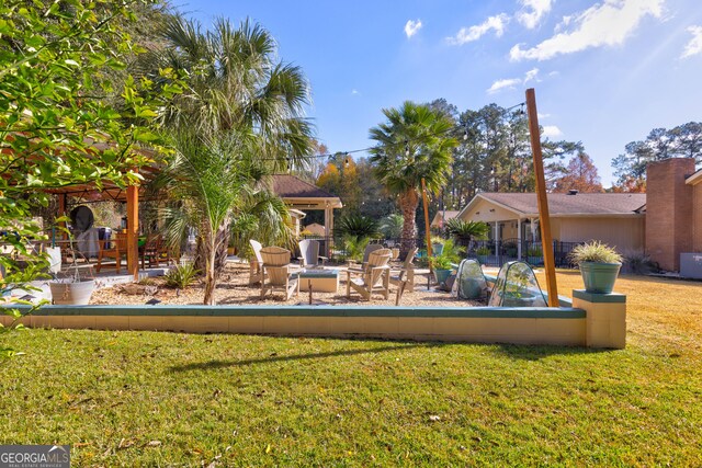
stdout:
<svg viewBox="0 0 702 468">
<path fill-rule="evenodd" d="M 573 307 L 586 311 L 586 346 L 626 346 L 626 296 L 573 290 Z"/>
</svg>

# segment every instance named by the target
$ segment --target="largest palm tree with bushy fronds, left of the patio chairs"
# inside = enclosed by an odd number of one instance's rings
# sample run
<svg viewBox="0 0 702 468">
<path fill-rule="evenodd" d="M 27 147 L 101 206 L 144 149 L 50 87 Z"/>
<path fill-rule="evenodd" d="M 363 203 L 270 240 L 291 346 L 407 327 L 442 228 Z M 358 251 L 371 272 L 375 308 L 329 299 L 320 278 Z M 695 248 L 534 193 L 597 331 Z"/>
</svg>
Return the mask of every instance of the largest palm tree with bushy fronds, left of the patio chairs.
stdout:
<svg viewBox="0 0 702 468">
<path fill-rule="evenodd" d="M 268 31 L 249 21 L 236 28 L 220 19 L 203 32 L 176 15 L 165 24 L 162 45 L 138 66 L 156 85 L 172 85 L 157 71 L 166 68 L 186 81 L 162 114 L 176 152 L 160 178 L 173 201 L 169 237 L 178 243 L 186 227 L 197 230 L 203 300 L 214 304 L 230 229 L 247 226 L 250 210 L 264 215 L 260 226 L 273 238 L 290 239 L 287 210 L 264 190 L 265 178 L 308 161 L 312 126 L 303 107 L 309 88 L 298 67 L 275 59 Z"/>
</svg>

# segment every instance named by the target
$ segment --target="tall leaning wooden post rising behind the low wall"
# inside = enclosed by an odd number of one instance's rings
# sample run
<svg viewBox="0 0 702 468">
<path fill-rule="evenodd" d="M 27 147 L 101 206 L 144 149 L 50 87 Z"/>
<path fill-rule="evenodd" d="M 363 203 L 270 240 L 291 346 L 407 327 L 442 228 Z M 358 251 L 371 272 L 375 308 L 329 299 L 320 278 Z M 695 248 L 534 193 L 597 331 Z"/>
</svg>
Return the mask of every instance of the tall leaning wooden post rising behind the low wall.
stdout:
<svg viewBox="0 0 702 468">
<path fill-rule="evenodd" d="M 558 286 L 556 285 L 556 265 L 553 256 L 553 241 L 551 238 L 551 217 L 548 215 L 548 198 L 546 197 L 546 179 L 544 176 L 544 162 L 541 153 L 541 135 L 539 133 L 539 117 L 536 115 L 536 94 L 533 88 L 526 90 L 526 113 L 529 114 L 531 151 L 534 157 L 536 201 L 539 202 L 539 224 L 541 225 L 541 250 L 543 251 L 544 270 L 546 271 L 548 306 L 558 307 Z"/>
</svg>

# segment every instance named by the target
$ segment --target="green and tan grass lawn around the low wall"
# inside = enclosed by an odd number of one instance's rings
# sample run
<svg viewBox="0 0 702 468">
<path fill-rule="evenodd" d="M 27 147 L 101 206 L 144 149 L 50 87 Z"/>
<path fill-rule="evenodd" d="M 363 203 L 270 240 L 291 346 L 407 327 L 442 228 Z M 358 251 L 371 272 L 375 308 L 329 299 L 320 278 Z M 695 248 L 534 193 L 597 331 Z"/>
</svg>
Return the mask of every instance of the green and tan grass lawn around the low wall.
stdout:
<svg viewBox="0 0 702 468">
<path fill-rule="evenodd" d="M 702 466 L 702 283 L 616 290 L 622 351 L 14 333 L 0 443 L 73 466 Z"/>
</svg>

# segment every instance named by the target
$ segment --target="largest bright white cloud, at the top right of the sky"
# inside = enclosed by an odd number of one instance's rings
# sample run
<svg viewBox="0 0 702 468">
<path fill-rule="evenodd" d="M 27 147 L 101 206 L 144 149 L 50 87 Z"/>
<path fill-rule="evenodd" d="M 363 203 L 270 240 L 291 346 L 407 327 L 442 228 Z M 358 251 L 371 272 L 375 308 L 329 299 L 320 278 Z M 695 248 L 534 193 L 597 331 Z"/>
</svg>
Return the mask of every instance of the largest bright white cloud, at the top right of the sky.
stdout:
<svg viewBox="0 0 702 468">
<path fill-rule="evenodd" d="M 622 45 L 638 27 L 646 15 L 660 18 L 665 0 L 605 0 L 578 13 L 573 19 L 564 19 L 557 33 L 535 47 L 522 49 L 517 44 L 510 50 L 512 60 L 547 60 L 559 54 L 573 54 L 590 47 Z"/>
</svg>

